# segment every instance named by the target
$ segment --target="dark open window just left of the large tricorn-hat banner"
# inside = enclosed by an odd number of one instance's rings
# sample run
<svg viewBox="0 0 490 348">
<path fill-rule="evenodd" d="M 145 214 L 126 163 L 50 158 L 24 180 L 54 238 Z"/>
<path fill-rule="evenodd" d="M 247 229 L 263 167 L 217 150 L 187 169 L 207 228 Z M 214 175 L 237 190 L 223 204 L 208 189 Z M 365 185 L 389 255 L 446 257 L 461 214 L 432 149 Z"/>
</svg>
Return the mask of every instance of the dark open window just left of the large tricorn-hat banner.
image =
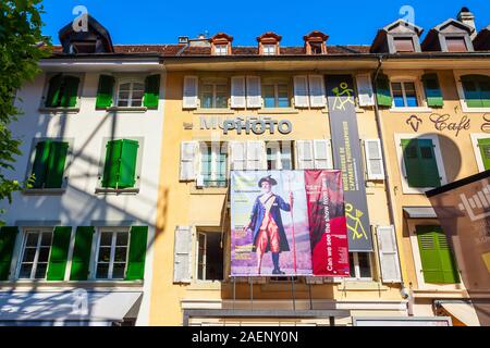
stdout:
<svg viewBox="0 0 490 348">
<path fill-rule="evenodd" d="M 197 236 L 197 278 L 199 281 L 222 281 L 221 232 L 198 232 Z"/>
</svg>

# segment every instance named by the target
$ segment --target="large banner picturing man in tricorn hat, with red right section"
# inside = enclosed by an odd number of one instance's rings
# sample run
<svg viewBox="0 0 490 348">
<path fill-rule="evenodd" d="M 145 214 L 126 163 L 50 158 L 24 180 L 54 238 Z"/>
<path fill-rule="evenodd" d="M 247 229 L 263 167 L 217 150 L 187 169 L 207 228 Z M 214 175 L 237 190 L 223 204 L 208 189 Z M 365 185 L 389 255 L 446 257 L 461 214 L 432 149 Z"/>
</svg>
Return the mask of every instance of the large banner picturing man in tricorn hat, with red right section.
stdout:
<svg viewBox="0 0 490 348">
<path fill-rule="evenodd" d="M 232 276 L 350 276 L 340 171 L 232 171 Z"/>
</svg>

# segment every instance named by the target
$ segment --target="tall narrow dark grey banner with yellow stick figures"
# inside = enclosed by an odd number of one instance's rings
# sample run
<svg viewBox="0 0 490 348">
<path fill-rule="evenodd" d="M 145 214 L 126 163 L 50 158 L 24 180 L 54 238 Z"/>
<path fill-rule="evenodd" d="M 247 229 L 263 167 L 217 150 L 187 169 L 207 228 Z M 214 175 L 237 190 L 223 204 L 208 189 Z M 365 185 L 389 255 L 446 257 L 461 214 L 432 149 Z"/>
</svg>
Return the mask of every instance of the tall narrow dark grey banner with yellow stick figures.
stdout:
<svg viewBox="0 0 490 348">
<path fill-rule="evenodd" d="M 328 75 L 327 92 L 333 162 L 342 171 L 348 250 L 372 251 L 352 76 Z"/>
</svg>

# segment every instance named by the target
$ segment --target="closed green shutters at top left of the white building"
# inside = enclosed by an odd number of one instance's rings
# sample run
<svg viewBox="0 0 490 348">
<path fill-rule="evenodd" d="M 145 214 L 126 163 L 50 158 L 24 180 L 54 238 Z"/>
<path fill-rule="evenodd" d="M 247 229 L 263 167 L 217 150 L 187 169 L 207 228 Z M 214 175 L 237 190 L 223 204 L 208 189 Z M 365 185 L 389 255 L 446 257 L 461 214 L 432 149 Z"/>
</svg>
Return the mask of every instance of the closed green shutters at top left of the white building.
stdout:
<svg viewBox="0 0 490 348">
<path fill-rule="evenodd" d="M 58 74 L 49 79 L 46 108 L 75 108 L 78 100 L 79 77 Z"/>
</svg>

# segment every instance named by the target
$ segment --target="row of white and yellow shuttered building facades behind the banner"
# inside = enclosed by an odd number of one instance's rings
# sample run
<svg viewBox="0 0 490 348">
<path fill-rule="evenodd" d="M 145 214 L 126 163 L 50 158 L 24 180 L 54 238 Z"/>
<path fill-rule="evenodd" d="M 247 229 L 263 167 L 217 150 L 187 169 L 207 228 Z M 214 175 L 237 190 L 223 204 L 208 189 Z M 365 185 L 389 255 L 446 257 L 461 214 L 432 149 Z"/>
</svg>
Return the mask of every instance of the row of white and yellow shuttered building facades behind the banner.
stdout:
<svg viewBox="0 0 490 348">
<path fill-rule="evenodd" d="M 0 323 L 478 324 L 425 195 L 490 165 L 490 35 L 467 9 L 370 46 L 113 46 L 88 23 L 19 92 L 10 174 L 34 176 L 2 215 Z M 231 172 L 329 169 L 356 201 L 350 276 L 231 276 Z"/>
</svg>

